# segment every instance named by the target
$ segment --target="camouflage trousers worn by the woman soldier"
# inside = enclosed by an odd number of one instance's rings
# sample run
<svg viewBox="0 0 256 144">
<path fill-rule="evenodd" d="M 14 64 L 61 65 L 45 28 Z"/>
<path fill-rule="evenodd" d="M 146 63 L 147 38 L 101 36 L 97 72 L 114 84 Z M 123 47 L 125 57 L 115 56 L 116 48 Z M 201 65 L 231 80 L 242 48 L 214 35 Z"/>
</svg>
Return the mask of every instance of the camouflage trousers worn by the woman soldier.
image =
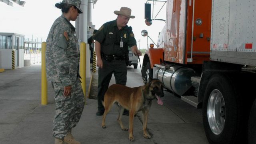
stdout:
<svg viewBox="0 0 256 144">
<path fill-rule="evenodd" d="M 78 80 L 71 87 L 71 94 L 64 97 L 64 87 L 60 82 L 52 82 L 55 99 L 55 116 L 52 133 L 55 138 L 63 139 L 79 122 L 84 110 L 84 93 Z"/>
</svg>

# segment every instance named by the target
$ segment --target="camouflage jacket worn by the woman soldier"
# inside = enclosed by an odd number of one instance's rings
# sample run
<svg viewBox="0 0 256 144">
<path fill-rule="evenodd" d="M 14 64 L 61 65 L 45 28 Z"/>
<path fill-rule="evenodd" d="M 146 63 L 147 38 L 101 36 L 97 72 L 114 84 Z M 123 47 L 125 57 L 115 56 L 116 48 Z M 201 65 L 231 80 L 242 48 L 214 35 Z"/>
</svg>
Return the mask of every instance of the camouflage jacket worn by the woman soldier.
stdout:
<svg viewBox="0 0 256 144">
<path fill-rule="evenodd" d="M 70 86 L 77 81 L 80 52 L 76 29 L 64 17 L 57 18 L 46 40 L 46 75 L 50 82 Z"/>
</svg>

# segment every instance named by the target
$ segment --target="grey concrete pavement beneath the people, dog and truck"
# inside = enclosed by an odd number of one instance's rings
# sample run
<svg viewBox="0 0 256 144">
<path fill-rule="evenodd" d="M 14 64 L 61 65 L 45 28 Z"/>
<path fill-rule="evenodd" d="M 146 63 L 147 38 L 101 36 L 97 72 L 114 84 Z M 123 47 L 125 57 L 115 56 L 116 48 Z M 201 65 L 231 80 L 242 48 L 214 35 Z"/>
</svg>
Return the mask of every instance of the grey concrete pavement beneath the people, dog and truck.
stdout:
<svg viewBox="0 0 256 144">
<path fill-rule="evenodd" d="M 97 74 L 93 74 L 94 82 Z M 87 87 L 90 80 L 86 80 Z M 111 80 L 114 84 L 114 78 Z M 142 85 L 140 68 L 128 67 L 127 86 Z M 95 92 L 95 83 L 91 92 Z M 87 88 L 88 90 L 88 88 Z M 102 116 L 96 116 L 97 100 L 87 99 L 80 122 L 72 131 L 82 144 L 208 144 L 199 109 L 166 92 L 164 105 L 154 100 L 149 112 L 148 132 L 142 132 L 141 112 L 134 119 L 134 142 L 128 131 L 122 131 L 113 106 L 106 117 L 106 129 L 101 128 Z M 54 144 L 53 90 L 48 84 L 48 105 L 41 105 L 41 66 L 33 64 L 0 73 L 0 144 Z M 122 116 L 128 127 L 128 116 Z"/>
</svg>

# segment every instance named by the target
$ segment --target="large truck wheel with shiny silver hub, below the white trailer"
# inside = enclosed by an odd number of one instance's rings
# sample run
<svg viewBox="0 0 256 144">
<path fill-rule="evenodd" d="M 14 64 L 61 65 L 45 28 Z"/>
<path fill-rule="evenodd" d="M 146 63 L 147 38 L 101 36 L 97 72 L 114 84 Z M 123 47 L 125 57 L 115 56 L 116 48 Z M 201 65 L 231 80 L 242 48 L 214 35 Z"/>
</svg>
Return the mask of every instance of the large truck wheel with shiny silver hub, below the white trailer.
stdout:
<svg viewBox="0 0 256 144">
<path fill-rule="evenodd" d="M 210 78 L 204 93 L 202 114 L 204 130 L 210 144 L 238 142 L 242 124 L 241 111 L 238 94 L 230 78 L 221 74 Z"/>
</svg>

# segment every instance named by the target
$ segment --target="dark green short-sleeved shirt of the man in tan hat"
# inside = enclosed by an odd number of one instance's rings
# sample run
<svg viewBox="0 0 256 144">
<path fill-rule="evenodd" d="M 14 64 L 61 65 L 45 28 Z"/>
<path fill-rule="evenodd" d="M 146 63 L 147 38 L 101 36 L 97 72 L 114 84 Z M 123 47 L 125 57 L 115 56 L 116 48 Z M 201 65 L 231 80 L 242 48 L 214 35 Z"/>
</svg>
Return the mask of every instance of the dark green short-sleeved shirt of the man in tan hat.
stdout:
<svg viewBox="0 0 256 144">
<path fill-rule="evenodd" d="M 128 52 L 128 46 L 136 45 L 132 27 L 125 26 L 118 30 L 116 20 L 103 24 L 93 39 L 100 42 L 101 53 L 107 55 L 124 55 Z M 120 42 L 123 42 L 123 47 L 120 47 Z"/>
</svg>

